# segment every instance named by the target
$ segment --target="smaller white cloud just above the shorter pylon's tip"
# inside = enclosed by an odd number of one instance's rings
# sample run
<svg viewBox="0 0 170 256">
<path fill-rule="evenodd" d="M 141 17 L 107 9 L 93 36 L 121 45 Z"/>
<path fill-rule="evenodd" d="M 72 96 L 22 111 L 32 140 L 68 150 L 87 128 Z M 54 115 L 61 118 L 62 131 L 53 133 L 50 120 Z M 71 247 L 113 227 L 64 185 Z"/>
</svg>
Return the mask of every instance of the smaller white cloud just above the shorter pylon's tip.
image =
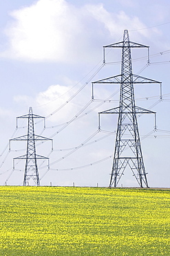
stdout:
<svg viewBox="0 0 170 256">
<path fill-rule="evenodd" d="M 35 97 L 28 95 L 14 95 L 13 100 L 18 106 L 28 107 L 32 106 L 34 111 L 37 112 L 36 108 L 41 107 L 41 113 L 43 116 L 50 116 L 51 113 L 56 109 L 63 106 L 58 115 L 52 115 L 50 120 L 52 122 L 65 122 L 69 120 L 71 113 L 77 109 L 76 104 L 70 102 L 70 97 L 74 94 L 74 88 L 72 86 L 61 86 L 60 84 L 54 84 L 49 86 L 45 91 L 40 91 Z M 69 107 L 67 107 L 67 103 Z M 56 111 L 58 112 L 58 111 Z M 0 111 L 1 114 L 1 111 Z"/>
</svg>

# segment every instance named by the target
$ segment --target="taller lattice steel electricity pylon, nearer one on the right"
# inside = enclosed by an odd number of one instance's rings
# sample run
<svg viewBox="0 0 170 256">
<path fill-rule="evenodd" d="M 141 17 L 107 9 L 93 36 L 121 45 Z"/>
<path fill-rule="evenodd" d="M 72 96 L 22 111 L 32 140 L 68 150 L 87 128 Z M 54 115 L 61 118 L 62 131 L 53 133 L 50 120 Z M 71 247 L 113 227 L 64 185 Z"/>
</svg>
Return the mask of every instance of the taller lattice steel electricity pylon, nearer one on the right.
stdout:
<svg viewBox="0 0 170 256">
<path fill-rule="evenodd" d="M 134 98 L 134 84 L 151 84 L 160 82 L 151 80 L 140 75 L 132 73 L 131 65 L 131 48 L 143 48 L 143 44 L 138 44 L 129 41 L 128 30 L 124 30 L 123 42 L 109 44 L 105 48 L 122 48 L 122 63 L 121 74 L 113 77 L 108 77 L 103 80 L 98 80 L 92 84 L 120 84 L 120 104 L 119 107 L 108 109 L 99 113 L 117 113 L 118 125 L 116 131 L 116 144 L 114 150 L 114 161 L 111 170 L 111 179 L 109 187 L 118 185 L 121 176 L 123 176 L 127 166 L 134 174 L 138 185 L 142 188 L 143 185 L 148 188 L 147 173 L 142 158 L 142 149 L 140 145 L 140 135 L 138 131 L 138 122 L 136 114 L 138 113 L 155 113 L 141 107 L 137 107 Z M 104 58 L 105 62 L 105 58 Z M 92 94 L 92 98 L 94 95 Z M 100 118 L 99 118 L 100 120 Z M 99 125 L 100 127 L 100 125 Z M 129 150 L 126 150 L 129 149 Z"/>
</svg>

